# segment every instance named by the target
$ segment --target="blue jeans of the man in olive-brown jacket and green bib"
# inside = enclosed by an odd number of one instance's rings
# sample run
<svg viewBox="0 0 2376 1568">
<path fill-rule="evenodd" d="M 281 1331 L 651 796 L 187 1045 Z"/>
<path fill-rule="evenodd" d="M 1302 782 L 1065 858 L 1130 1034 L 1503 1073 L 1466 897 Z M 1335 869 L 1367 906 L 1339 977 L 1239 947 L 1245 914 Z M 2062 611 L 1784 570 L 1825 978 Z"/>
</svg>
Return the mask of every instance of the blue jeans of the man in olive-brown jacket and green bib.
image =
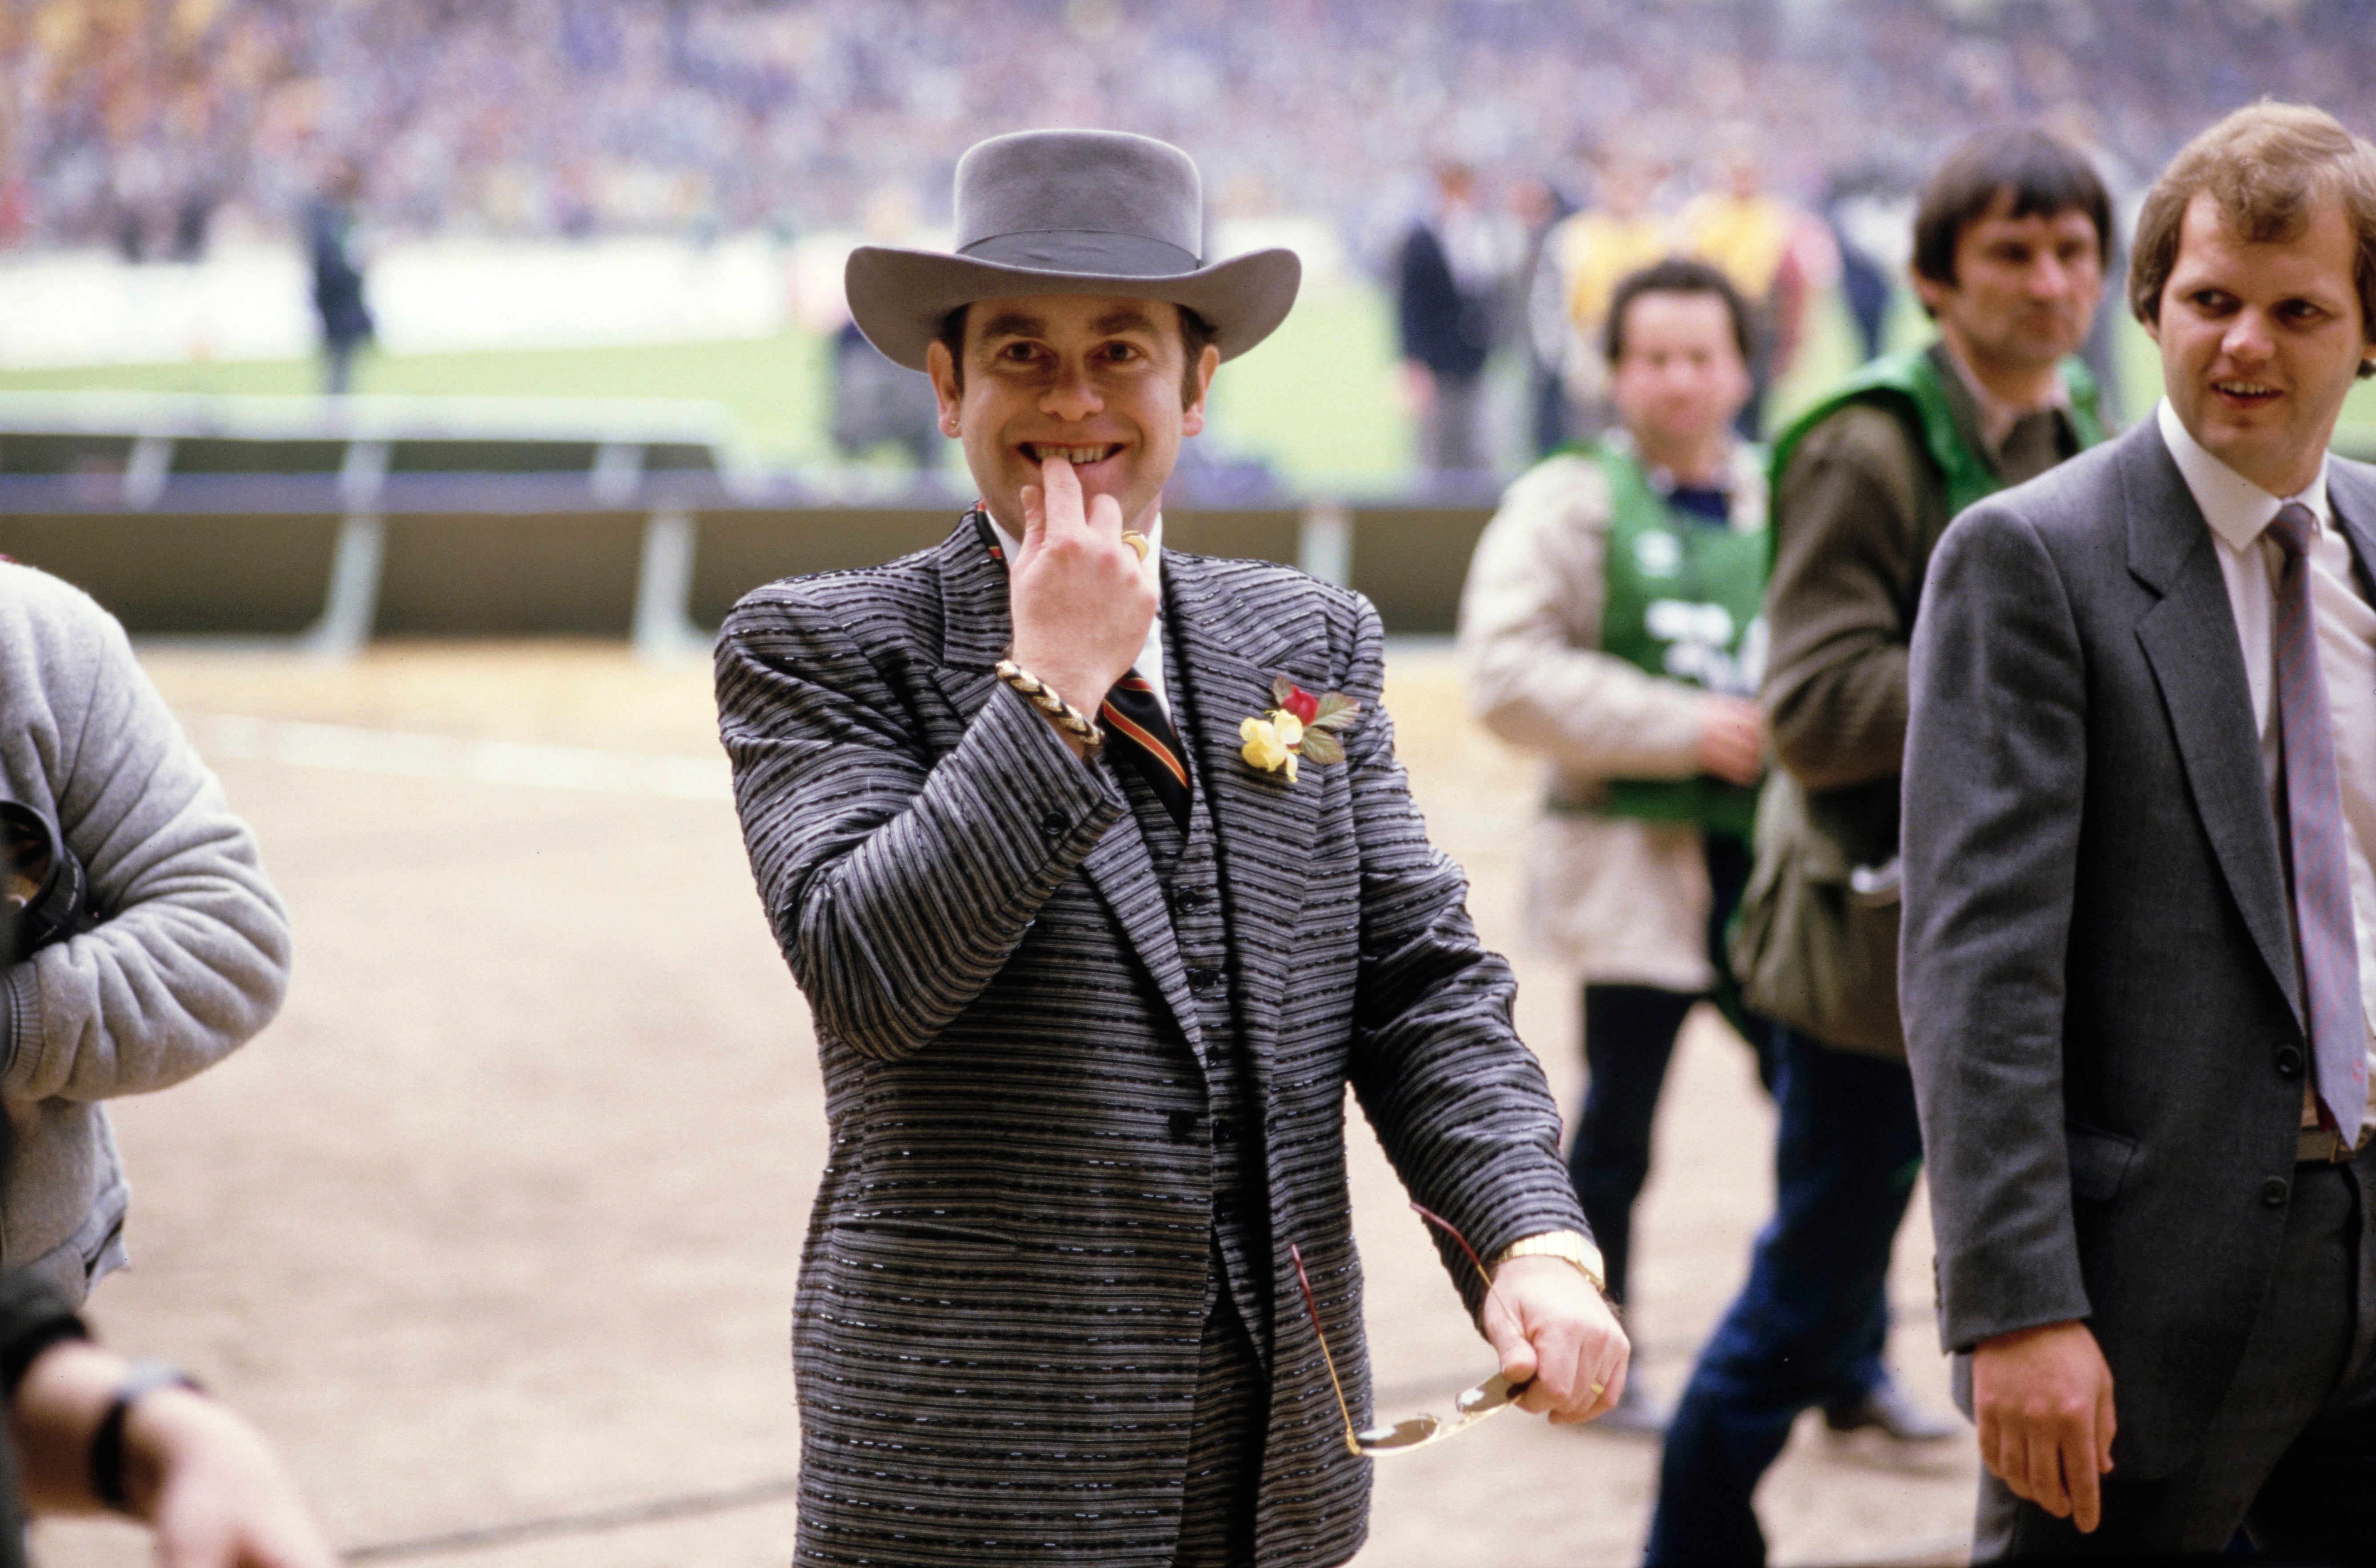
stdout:
<svg viewBox="0 0 2376 1568">
<path fill-rule="evenodd" d="M 1889 1321 L 1889 1247 L 1922 1174 L 1913 1074 L 1780 1026 L 1775 1050 L 1775 1216 L 1666 1430 L 1649 1568 L 1765 1561 L 1751 1492 Z"/>
</svg>

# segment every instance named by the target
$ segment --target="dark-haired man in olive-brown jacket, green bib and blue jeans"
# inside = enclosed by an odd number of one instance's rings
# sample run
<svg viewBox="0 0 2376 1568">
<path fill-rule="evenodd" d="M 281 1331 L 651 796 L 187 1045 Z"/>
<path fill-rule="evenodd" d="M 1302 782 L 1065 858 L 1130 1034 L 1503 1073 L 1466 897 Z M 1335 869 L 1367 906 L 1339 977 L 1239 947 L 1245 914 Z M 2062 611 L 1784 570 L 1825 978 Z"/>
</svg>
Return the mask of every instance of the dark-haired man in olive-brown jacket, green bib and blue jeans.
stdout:
<svg viewBox="0 0 2376 1568">
<path fill-rule="evenodd" d="M 1763 1563 L 1751 1492 L 1887 1333 L 1922 1171 L 1896 998 L 1906 653 L 1948 520 L 2103 440 L 2069 356 L 2108 259 L 2110 202 L 2079 152 L 1967 140 L 1915 214 L 1939 342 L 1872 361 L 1775 442 L 1758 696 L 1780 767 L 1732 946 L 1744 1000 L 1777 1019 L 1775 1219 L 1668 1428 L 1651 1568 Z"/>
</svg>

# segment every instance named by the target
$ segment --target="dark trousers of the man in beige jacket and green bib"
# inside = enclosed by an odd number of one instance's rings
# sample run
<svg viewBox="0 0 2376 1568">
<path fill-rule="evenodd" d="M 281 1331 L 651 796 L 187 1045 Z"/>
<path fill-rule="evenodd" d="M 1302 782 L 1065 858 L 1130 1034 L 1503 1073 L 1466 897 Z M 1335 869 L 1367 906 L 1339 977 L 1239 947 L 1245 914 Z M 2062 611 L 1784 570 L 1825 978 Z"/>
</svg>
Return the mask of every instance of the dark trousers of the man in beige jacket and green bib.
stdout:
<svg viewBox="0 0 2376 1568">
<path fill-rule="evenodd" d="M 1718 1000 L 1732 1000 L 1725 927 L 1742 903 L 1749 881 L 1749 846 L 1730 834 L 1704 834 L 1708 858 L 1708 957 L 1718 974 Z M 1609 1295 L 1625 1300 L 1628 1257 L 1632 1252 L 1632 1207 L 1649 1181 L 1651 1124 L 1658 1117 L 1658 1090 L 1666 1088 L 1666 1064 L 1675 1055 L 1675 1036 L 1699 995 L 1656 986 L 1585 986 L 1585 1107 L 1575 1117 L 1575 1140 L 1568 1145 L 1568 1181 L 1585 1224 L 1609 1266 Z M 1734 1010 L 1737 1012 L 1737 1010 Z M 1770 1026 L 1763 1019 L 1737 1019 L 1751 1045 L 1763 1045 Z M 1758 1052 L 1763 1060 L 1763 1050 Z M 1761 1069 L 1761 1076 L 1768 1076 Z"/>
</svg>

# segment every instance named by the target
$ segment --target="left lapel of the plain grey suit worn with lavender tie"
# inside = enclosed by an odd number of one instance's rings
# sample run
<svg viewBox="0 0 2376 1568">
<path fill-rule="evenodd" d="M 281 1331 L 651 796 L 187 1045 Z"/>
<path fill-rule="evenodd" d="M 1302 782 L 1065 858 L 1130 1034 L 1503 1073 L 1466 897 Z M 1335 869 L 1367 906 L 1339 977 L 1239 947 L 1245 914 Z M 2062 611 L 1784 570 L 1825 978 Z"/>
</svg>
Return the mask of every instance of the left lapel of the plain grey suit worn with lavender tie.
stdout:
<svg viewBox="0 0 2376 1568">
<path fill-rule="evenodd" d="M 2136 639 L 2162 687 L 2186 786 L 2229 893 L 2300 1017 L 2286 870 L 2219 546 L 2155 421 L 2138 423 L 2122 440 L 2119 480 L 2129 516 L 2129 573 L 2160 594 L 2138 618 Z"/>
</svg>

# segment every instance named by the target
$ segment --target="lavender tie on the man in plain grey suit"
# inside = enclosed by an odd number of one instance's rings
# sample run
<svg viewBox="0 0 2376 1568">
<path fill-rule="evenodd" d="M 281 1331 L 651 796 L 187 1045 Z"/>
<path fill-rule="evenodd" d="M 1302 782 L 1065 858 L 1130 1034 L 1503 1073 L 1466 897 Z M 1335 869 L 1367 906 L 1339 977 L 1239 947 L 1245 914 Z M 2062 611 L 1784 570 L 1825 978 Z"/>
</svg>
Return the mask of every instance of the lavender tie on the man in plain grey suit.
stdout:
<svg viewBox="0 0 2376 1568">
<path fill-rule="evenodd" d="M 2293 851 L 2293 919 L 2309 1000 L 2309 1055 L 2319 1105 L 2347 1143 L 2369 1105 L 2366 1017 L 2359 1005 L 2359 941 L 2352 929 L 2350 860 L 2343 851 L 2343 786 L 2336 725 L 2319 672 L 2319 622 L 2309 603 L 2309 508 L 2286 504 L 2269 537 L 2286 551 L 2276 577 L 2276 713 L 2286 755 L 2286 836 Z"/>
</svg>

